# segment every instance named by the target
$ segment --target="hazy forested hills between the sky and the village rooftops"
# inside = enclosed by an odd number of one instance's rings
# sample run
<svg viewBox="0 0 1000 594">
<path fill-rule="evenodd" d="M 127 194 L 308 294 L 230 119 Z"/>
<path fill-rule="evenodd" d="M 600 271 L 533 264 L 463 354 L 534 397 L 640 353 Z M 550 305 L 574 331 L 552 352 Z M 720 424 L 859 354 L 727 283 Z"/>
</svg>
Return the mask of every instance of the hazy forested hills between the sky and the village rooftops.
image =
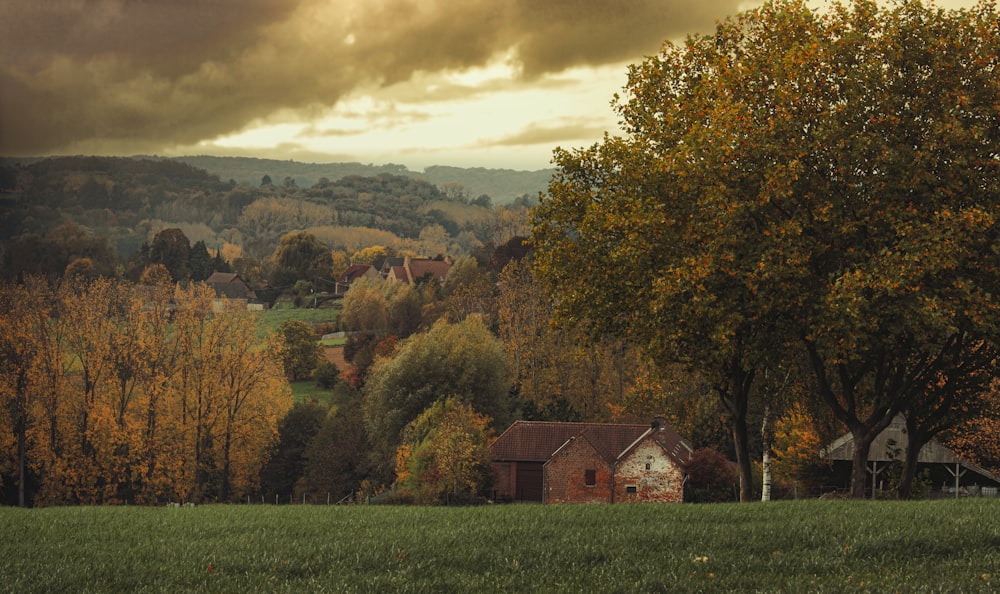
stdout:
<svg viewBox="0 0 1000 594">
<path fill-rule="evenodd" d="M 314 233 L 348 256 L 373 244 L 461 255 L 509 239 L 493 237 L 498 228 L 510 227 L 501 211 L 516 209 L 522 213 L 517 220 L 526 220 L 526 207 L 538 194 L 495 206 L 492 195 L 460 182 L 438 186 L 402 166 L 196 159 L 243 168 L 241 178 L 256 179 L 234 179 L 232 167 L 220 175 L 175 159 L 0 159 L 0 276 L 51 274 L 79 258 L 89 258 L 98 270 L 113 269 L 171 228 L 191 244 L 228 250 L 227 260 L 266 258 L 293 231 Z M 296 177 L 305 173 L 324 175 L 306 185 Z M 489 176 L 474 171 L 470 179 L 477 176 L 485 180 L 478 187 L 485 187 Z M 94 245 L 95 239 L 106 241 L 106 248 Z"/>
</svg>

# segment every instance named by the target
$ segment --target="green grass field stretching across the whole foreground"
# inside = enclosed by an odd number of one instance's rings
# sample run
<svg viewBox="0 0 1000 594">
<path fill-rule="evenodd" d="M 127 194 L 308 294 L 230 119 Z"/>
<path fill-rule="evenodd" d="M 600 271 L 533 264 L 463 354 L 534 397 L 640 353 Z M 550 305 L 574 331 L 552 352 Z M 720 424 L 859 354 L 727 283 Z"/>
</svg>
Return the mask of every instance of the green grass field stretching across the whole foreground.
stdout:
<svg viewBox="0 0 1000 594">
<path fill-rule="evenodd" d="M 992 592 L 1000 500 L 0 509 L 5 592 Z"/>
</svg>

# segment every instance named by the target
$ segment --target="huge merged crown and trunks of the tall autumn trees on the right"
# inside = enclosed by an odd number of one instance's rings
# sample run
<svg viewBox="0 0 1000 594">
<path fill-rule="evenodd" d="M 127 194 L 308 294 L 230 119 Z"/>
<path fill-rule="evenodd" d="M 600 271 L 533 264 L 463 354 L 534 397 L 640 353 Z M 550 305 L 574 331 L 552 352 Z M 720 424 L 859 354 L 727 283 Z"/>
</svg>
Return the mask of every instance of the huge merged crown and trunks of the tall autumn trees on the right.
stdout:
<svg viewBox="0 0 1000 594">
<path fill-rule="evenodd" d="M 995 336 L 997 16 L 767 3 L 632 67 L 623 137 L 557 152 L 543 277 L 566 315 L 715 379 L 743 500 L 775 356 L 802 353 L 852 433 L 861 496 L 871 441 L 960 372 L 952 338 Z"/>
</svg>

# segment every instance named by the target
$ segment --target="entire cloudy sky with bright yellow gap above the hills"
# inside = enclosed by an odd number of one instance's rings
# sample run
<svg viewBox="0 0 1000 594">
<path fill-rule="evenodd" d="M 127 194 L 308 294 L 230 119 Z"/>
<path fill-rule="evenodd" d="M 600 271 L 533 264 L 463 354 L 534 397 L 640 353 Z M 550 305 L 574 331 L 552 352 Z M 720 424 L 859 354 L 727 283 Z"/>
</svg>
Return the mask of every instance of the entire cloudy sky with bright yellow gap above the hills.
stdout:
<svg viewBox="0 0 1000 594">
<path fill-rule="evenodd" d="M 3 0 L 0 156 L 543 169 L 617 130 L 629 64 L 753 4 Z"/>
</svg>

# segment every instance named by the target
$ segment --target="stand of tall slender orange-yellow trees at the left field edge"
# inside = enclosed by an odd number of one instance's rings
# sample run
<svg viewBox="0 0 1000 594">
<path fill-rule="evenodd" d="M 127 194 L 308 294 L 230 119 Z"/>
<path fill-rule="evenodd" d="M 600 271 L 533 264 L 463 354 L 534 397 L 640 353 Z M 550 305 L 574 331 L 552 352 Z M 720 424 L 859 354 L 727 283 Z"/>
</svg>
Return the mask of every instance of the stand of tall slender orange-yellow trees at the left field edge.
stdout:
<svg viewBox="0 0 1000 594">
<path fill-rule="evenodd" d="M 7 311 L 26 320 L 20 342 L 33 345 L 22 392 L 36 504 L 230 500 L 253 489 L 292 404 L 280 345 L 256 336 L 253 313 L 213 309 L 202 285 L 171 300 L 107 279 L 31 283 L 37 301 Z M 0 288 L 0 303 L 17 290 Z M 0 400 L 11 371 L 0 373 Z M 0 417 L 5 446 L 14 427 Z"/>
</svg>

